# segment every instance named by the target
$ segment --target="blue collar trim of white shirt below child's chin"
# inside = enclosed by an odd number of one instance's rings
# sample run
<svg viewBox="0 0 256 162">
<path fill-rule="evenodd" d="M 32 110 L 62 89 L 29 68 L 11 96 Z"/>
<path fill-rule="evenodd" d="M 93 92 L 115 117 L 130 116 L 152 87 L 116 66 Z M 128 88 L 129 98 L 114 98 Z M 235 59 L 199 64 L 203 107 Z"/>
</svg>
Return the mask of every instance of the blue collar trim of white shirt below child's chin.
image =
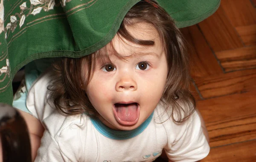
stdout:
<svg viewBox="0 0 256 162">
<path fill-rule="evenodd" d="M 148 124 L 151 122 L 154 112 L 148 117 L 145 122 L 142 123 L 138 128 L 131 130 L 131 131 L 116 131 L 111 128 L 108 128 L 103 124 L 99 118 L 92 118 L 90 117 L 93 126 L 105 137 L 108 137 L 113 140 L 127 140 L 133 138 L 139 134 L 141 134 L 145 128 L 148 127 Z"/>
</svg>

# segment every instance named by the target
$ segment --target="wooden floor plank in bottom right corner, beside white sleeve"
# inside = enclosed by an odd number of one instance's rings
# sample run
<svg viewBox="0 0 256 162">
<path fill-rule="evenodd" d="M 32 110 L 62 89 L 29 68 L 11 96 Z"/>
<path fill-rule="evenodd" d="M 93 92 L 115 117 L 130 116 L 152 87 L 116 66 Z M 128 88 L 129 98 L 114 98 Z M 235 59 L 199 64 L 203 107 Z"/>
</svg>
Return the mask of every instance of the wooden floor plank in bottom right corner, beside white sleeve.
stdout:
<svg viewBox="0 0 256 162">
<path fill-rule="evenodd" d="M 201 162 L 256 162 L 256 140 L 211 148 Z"/>
</svg>

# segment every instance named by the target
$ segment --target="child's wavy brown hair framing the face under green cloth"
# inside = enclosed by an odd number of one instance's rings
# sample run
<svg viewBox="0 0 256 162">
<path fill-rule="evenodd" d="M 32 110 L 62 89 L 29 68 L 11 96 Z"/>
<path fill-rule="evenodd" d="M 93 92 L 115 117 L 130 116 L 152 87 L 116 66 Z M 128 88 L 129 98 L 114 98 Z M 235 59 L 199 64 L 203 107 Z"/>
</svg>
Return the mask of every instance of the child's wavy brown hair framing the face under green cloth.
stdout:
<svg viewBox="0 0 256 162">
<path fill-rule="evenodd" d="M 169 70 L 161 101 L 166 106 L 165 112 L 169 117 L 176 122 L 183 122 L 195 111 L 195 99 L 189 91 L 189 58 L 184 47 L 183 37 L 175 26 L 174 20 L 154 0 L 143 0 L 134 5 L 125 15 L 117 32 L 117 36 L 139 45 L 154 45 L 154 41 L 136 39 L 126 30 L 126 26 L 137 22 L 149 23 L 159 32 L 166 50 Z M 108 45 L 111 45 L 111 42 Z M 81 67 L 82 64 L 87 66 L 85 67 L 87 79 L 84 85 L 87 86 L 93 76 L 96 60 L 106 58 L 104 51 L 107 47 L 84 56 L 82 59 L 61 58 L 53 65 L 55 75 L 48 87 L 49 99 L 59 112 L 64 115 L 76 115 L 84 112 L 98 114 L 90 103 L 86 92 L 81 89 Z"/>
</svg>

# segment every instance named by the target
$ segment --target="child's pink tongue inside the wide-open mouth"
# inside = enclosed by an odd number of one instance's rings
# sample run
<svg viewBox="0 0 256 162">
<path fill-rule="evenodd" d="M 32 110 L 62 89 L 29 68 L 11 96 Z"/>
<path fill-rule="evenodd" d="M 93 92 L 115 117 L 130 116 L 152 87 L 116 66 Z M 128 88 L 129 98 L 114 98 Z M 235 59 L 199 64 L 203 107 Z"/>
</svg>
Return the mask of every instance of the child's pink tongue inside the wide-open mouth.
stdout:
<svg viewBox="0 0 256 162">
<path fill-rule="evenodd" d="M 137 103 L 121 104 L 116 103 L 117 116 L 122 121 L 132 122 L 138 118 Z"/>
</svg>

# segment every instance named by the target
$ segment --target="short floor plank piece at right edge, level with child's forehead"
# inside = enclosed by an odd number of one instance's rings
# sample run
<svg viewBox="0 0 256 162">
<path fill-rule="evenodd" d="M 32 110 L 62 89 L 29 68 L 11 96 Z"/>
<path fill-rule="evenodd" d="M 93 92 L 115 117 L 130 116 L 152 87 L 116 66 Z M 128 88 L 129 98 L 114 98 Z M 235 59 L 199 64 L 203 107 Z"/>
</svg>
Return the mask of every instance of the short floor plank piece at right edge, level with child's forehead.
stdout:
<svg viewBox="0 0 256 162">
<path fill-rule="evenodd" d="M 236 27 L 244 45 L 256 45 L 256 24 Z"/>
</svg>

